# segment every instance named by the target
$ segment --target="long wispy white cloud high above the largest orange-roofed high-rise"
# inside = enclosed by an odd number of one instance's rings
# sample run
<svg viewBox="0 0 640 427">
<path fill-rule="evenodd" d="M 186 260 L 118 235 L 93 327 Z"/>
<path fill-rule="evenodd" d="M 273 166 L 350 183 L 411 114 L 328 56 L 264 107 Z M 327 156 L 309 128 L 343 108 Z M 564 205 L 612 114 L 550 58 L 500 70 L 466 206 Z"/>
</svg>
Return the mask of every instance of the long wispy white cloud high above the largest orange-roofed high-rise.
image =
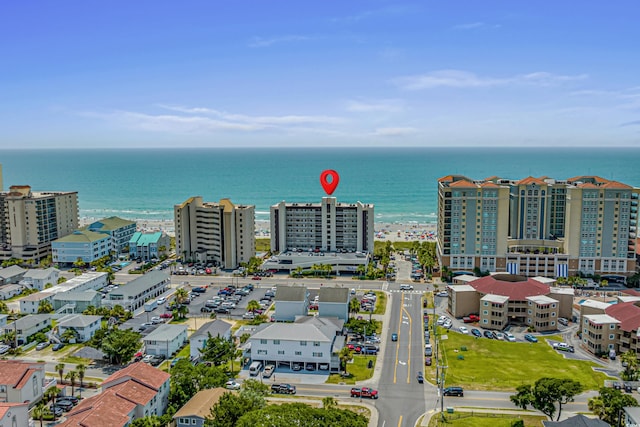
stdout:
<svg viewBox="0 0 640 427">
<path fill-rule="evenodd" d="M 583 80 L 588 76 L 558 75 L 548 72 L 519 74 L 511 77 L 483 77 L 462 70 L 438 70 L 415 76 L 398 77 L 393 82 L 402 89 L 421 90 L 438 87 L 478 88 L 509 85 L 551 86 L 568 81 Z"/>
</svg>

